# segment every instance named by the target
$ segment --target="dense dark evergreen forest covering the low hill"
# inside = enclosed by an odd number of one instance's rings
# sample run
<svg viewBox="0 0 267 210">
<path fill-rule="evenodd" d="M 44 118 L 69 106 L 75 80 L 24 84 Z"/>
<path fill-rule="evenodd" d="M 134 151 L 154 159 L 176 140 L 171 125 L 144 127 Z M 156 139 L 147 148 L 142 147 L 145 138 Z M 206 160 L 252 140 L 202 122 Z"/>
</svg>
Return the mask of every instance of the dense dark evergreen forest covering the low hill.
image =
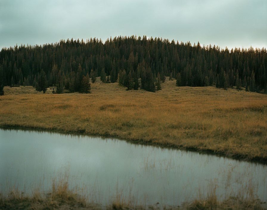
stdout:
<svg viewBox="0 0 267 210">
<path fill-rule="evenodd" d="M 138 89 L 161 89 L 165 76 L 177 86 L 246 87 L 267 92 L 266 49 L 220 49 L 161 38 L 115 37 L 103 43 L 97 38 L 61 40 L 43 46 L 15 46 L 0 52 L 3 84 L 32 85 L 39 91 L 57 86 L 59 92 L 82 91 L 82 83 L 101 76 Z M 108 76 L 108 78 L 106 78 Z"/>
</svg>

